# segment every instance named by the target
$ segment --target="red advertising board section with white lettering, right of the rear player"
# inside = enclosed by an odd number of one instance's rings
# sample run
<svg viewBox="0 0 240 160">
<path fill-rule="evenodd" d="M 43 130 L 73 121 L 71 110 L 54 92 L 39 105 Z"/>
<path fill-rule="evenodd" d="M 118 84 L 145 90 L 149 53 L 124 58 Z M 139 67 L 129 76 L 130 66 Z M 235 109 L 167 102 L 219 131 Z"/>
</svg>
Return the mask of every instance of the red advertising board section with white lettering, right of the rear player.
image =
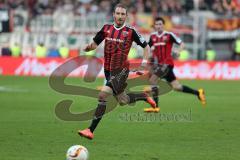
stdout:
<svg viewBox="0 0 240 160">
<path fill-rule="evenodd" d="M 179 79 L 239 80 L 240 62 L 175 62 L 174 72 Z"/>
</svg>

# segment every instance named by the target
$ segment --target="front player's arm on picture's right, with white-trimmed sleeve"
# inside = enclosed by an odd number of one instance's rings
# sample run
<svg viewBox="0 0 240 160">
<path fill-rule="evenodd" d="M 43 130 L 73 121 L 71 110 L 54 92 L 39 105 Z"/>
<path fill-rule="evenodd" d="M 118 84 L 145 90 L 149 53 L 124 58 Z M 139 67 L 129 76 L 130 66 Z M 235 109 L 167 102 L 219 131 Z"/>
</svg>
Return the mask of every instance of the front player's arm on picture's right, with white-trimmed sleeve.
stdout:
<svg viewBox="0 0 240 160">
<path fill-rule="evenodd" d="M 143 48 L 142 66 L 145 67 L 147 65 L 150 47 L 148 46 L 148 43 L 146 42 L 146 40 L 134 29 L 133 29 L 133 41 L 136 42 L 137 45 L 140 45 Z"/>
</svg>

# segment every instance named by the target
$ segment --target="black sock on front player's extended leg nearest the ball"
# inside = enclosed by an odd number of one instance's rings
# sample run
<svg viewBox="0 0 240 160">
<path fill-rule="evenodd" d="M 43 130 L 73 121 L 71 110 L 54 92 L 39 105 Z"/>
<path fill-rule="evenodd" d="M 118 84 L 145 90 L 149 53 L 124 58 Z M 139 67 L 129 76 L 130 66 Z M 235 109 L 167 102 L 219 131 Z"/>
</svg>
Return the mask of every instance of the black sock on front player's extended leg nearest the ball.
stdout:
<svg viewBox="0 0 240 160">
<path fill-rule="evenodd" d="M 91 132 L 94 132 L 94 130 L 96 129 L 98 123 L 101 121 L 101 119 L 105 113 L 105 110 L 106 110 L 106 101 L 99 100 L 97 109 L 94 113 L 92 123 L 89 127 Z"/>
</svg>

